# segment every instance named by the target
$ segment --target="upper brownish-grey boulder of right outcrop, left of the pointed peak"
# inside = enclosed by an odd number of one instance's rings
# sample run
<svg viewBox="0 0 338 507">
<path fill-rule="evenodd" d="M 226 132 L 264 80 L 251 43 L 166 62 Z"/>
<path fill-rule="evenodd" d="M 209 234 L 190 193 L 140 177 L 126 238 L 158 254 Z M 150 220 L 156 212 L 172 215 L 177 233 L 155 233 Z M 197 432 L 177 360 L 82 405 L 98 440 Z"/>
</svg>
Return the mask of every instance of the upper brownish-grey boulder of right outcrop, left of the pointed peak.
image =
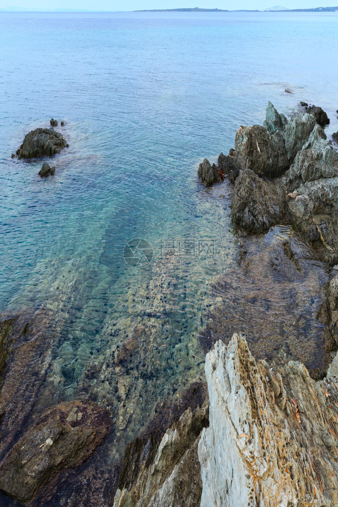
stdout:
<svg viewBox="0 0 338 507">
<path fill-rule="evenodd" d="M 235 161 L 242 169 L 275 177 L 290 166 L 280 131 L 270 134 L 265 127 L 240 127 L 235 138 Z"/>
</svg>

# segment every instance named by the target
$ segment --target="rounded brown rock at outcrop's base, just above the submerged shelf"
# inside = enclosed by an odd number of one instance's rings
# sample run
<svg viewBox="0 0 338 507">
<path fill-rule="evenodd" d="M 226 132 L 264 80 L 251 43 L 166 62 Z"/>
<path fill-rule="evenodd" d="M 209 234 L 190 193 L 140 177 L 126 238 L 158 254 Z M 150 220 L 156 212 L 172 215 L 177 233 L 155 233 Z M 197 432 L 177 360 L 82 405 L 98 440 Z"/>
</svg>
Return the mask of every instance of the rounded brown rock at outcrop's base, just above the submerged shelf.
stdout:
<svg viewBox="0 0 338 507">
<path fill-rule="evenodd" d="M 278 182 L 264 181 L 250 169 L 241 170 L 231 198 L 234 221 L 249 232 L 267 231 L 286 213 L 285 190 Z"/>
</svg>

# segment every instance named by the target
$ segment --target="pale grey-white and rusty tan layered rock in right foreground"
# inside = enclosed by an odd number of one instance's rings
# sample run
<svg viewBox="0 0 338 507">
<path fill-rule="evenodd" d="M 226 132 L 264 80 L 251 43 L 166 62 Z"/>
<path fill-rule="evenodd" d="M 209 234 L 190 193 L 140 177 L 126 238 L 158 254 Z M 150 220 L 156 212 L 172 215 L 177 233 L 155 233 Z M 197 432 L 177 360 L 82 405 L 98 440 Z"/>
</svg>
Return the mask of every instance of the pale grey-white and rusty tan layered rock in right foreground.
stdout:
<svg viewBox="0 0 338 507">
<path fill-rule="evenodd" d="M 201 507 L 338 503 L 338 387 L 290 361 L 271 370 L 233 335 L 206 358 L 210 426 L 198 445 Z"/>
</svg>

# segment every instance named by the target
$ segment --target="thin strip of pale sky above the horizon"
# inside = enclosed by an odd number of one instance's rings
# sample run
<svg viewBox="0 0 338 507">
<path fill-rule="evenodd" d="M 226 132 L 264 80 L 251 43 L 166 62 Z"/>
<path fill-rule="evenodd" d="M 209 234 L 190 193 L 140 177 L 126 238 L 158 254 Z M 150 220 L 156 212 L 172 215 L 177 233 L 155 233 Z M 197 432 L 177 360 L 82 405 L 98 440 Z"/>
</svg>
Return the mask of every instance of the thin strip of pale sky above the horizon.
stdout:
<svg viewBox="0 0 338 507">
<path fill-rule="evenodd" d="M 218 9 L 259 9 L 275 5 L 288 9 L 326 7 L 337 5 L 338 0 L 0 0 L 1 5 L 43 9 L 89 9 L 109 11 L 133 11 L 137 9 L 168 9 L 176 7 L 203 7 Z"/>
</svg>

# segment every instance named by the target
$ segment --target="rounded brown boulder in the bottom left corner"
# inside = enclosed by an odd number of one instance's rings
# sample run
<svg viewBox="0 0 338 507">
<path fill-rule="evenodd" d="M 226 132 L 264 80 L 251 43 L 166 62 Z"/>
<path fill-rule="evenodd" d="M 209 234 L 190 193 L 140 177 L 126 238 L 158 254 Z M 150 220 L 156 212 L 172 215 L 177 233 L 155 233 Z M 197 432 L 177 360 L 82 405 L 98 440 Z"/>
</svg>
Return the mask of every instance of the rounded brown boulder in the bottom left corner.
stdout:
<svg viewBox="0 0 338 507">
<path fill-rule="evenodd" d="M 110 418 L 93 403 L 66 402 L 49 409 L 0 465 L 0 489 L 27 503 L 63 467 L 79 466 L 104 440 Z"/>
</svg>

